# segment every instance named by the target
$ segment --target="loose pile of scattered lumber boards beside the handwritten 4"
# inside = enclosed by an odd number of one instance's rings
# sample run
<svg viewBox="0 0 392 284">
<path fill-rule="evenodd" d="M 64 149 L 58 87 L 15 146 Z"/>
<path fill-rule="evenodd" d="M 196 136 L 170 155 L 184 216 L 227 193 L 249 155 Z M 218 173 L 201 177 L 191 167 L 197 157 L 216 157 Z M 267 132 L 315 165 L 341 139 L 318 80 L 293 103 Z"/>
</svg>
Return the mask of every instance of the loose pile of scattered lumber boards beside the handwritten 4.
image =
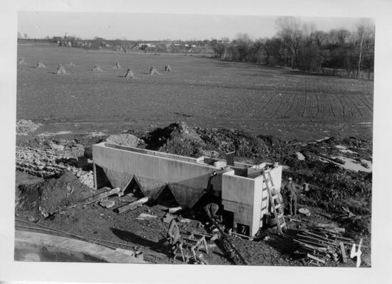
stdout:
<svg viewBox="0 0 392 284">
<path fill-rule="evenodd" d="M 342 236 L 344 231 L 344 228 L 334 224 L 317 224 L 303 229 L 294 239 L 298 245 L 298 249 L 294 251 L 295 261 L 316 266 L 329 261 L 346 263 L 346 251 L 351 249 L 354 239 Z"/>
</svg>

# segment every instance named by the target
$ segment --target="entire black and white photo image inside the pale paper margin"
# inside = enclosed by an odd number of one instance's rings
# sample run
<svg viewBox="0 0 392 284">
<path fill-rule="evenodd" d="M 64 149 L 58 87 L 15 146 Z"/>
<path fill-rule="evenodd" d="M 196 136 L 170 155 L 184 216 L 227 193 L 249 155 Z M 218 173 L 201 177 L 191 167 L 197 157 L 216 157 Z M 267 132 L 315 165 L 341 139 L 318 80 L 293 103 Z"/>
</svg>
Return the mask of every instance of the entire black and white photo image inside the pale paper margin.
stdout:
<svg viewBox="0 0 392 284">
<path fill-rule="evenodd" d="M 16 13 L 11 261 L 374 268 L 374 13 Z"/>
</svg>

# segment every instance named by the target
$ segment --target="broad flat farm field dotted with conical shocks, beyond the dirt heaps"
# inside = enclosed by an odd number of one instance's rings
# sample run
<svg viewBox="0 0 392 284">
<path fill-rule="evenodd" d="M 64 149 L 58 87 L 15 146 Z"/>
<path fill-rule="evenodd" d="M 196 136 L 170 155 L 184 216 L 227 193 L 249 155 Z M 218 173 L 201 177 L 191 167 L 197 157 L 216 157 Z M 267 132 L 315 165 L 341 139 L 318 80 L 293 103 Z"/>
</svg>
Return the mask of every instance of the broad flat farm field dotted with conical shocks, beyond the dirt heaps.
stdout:
<svg viewBox="0 0 392 284">
<path fill-rule="evenodd" d="M 176 120 L 282 138 L 371 136 L 373 82 L 185 55 L 19 45 L 17 118 L 44 131 L 109 131 Z M 40 61 L 46 69 L 37 69 Z M 69 67 L 67 62 L 75 67 Z M 115 62 L 124 69 L 115 70 Z M 55 75 L 62 63 L 68 75 Z M 172 72 L 164 72 L 169 63 Z M 94 73 L 99 64 L 104 72 Z M 148 75 L 149 67 L 161 75 Z M 137 79 L 126 80 L 125 68 Z"/>
</svg>

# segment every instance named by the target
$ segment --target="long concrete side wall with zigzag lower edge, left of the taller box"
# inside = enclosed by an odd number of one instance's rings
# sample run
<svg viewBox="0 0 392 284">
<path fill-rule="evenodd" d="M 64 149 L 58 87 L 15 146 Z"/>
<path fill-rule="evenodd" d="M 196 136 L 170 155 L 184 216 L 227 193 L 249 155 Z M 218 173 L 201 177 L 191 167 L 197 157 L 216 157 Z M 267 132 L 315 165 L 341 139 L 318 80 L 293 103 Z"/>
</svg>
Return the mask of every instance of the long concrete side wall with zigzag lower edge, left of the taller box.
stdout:
<svg viewBox="0 0 392 284">
<path fill-rule="evenodd" d="M 105 146 L 105 143 L 92 146 L 92 156 L 95 165 L 105 171 L 113 187 L 125 188 L 132 178 L 136 178 L 144 195 L 154 197 L 166 184 L 170 184 L 177 202 L 188 208 L 193 207 L 204 194 L 211 173 L 219 170 L 211 165 L 200 165 L 194 158 Z M 211 183 L 214 190 L 221 191 L 219 178 L 213 178 Z"/>
</svg>

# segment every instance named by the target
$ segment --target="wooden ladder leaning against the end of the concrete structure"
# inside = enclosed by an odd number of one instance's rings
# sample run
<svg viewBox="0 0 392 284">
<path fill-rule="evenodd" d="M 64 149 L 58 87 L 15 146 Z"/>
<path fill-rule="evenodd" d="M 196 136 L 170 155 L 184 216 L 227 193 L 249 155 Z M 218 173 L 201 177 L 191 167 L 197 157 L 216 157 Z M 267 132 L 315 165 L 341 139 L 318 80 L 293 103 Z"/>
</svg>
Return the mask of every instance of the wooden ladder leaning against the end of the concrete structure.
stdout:
<svg viewBox="0 0 392 284">
<path fill-rule="evenodd" d="M 282 229 L 286 231 L 287 226 L 285 222 L 285 217 L 283 216 L 283 207 L 282 204 L 279 202 L 277 191 L 275 190 L 275 185 L 269 170 L 265 170 L 263 172 L 263 178 L 265 181 L 265 186 L 267 187 L 268 195 L 270 197 L 270 204 L 272 207 L 272 211 L 274 212 L 275 215 L 277 232 L 282 236 L 283 235 Z M 268 185 L 268 182 L 270 182 L 270 185 Z M 275 200 L 277 204 L 275 204 Z"/>
</svg>

